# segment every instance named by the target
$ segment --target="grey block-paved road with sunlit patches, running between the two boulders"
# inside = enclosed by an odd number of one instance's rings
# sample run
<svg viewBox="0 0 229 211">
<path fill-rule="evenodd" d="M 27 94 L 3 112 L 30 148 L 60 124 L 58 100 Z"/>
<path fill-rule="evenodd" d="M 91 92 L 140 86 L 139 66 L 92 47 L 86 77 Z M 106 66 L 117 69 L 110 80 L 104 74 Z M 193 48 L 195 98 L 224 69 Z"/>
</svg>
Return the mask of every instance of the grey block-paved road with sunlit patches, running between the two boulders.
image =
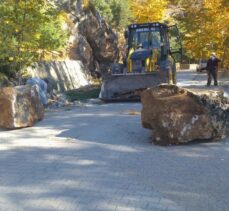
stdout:
<svg viewBox="0 0 229 211">
<path fill-rule="evenodd" d="M 140 109 L 86 104 L 0 131 L 0 210 L 229 210 L 227 138 L 155 146 Z"/>
</svg>

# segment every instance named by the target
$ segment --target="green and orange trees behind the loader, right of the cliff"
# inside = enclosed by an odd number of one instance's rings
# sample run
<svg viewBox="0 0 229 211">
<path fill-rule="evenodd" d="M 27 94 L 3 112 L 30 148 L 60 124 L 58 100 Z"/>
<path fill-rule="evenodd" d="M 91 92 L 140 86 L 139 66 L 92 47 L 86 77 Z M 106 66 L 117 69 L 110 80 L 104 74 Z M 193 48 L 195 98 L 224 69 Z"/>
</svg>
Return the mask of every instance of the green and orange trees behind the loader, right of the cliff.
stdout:
<svg viewBox="0 0 229 211">
<path fill-rule="evenodd" d="M 118 29 L 133 22 L 177 24 L 186 58 L 197 60 L 216 52 L 229 66 L 228 0 L 91 0 L 91 4 Z"/>
</svg>

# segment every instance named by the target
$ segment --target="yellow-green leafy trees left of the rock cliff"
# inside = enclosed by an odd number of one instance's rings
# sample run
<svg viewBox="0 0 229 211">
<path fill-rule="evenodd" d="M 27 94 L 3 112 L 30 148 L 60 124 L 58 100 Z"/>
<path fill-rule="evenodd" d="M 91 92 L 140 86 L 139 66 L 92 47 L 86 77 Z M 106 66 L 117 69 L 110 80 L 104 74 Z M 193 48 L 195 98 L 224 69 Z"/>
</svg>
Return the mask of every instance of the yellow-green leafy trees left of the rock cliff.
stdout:
<svg viewBox="0 0 229 211">
<path fill-rule="evenodd" d="M 0 2 L 0 71 L 8 77 L 47 52 L 65 48 L 65 13 L 48 0 Z"/>
</svg>

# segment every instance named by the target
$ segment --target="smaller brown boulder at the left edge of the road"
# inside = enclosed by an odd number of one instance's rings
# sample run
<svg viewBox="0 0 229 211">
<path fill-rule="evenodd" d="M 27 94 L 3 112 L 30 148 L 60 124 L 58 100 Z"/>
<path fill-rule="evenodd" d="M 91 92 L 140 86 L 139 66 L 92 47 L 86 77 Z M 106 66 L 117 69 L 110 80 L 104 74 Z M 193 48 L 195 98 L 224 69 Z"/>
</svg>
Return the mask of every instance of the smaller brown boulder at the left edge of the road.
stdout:
<svg viewBox="0 0 229 211">
<path fill-rule="evenodd" d="M 36 86 L 0 89 L 0 127 L 16 129 L 29 127 L 44 117 L 44 107 Z"/>
</svg>

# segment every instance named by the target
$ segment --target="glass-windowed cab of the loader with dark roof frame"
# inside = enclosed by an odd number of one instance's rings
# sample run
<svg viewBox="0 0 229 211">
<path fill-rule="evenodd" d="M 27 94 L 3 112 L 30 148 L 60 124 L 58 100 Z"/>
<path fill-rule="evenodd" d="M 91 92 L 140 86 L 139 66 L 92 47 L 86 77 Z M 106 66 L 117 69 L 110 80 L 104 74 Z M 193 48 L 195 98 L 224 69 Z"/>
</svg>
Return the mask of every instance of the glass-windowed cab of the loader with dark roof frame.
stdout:
<svg viewBox="0 0 229 211">
<path fill-rule="evenodd" d="M 125 31 L 127 54 L 138 49 L 157 51 L 157 63 L 172 55 L 176 62 L 181 60 L 182 45 L 176 25 L 163 23 L 131 24 Z"/>
</svg>

